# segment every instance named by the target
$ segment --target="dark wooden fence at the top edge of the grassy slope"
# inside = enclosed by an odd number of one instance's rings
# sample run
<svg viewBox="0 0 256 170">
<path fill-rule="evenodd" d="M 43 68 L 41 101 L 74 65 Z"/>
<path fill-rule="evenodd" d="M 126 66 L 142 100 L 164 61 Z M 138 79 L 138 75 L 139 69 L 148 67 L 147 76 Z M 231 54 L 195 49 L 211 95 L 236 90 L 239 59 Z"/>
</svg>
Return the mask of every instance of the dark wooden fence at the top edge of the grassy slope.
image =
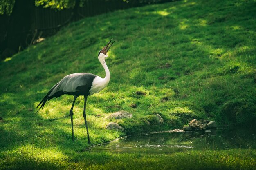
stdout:
<svg viewBox="0 0 256 170">
<path fill-rule="evenodd" d="M 83 7 L 78 8 L 76 20 L 84 17 L 112 12 L 118 9 L 140 7 L 149 3 L 164 3 L 173 0 L 86 0 Z M 42 30 L 44 35 L 51 35 L 58 31 L 58 28 L 70 21 L 72 9 L 61 11 L 35 7 L 34 25 L 32 29 Z"/>
</svg>

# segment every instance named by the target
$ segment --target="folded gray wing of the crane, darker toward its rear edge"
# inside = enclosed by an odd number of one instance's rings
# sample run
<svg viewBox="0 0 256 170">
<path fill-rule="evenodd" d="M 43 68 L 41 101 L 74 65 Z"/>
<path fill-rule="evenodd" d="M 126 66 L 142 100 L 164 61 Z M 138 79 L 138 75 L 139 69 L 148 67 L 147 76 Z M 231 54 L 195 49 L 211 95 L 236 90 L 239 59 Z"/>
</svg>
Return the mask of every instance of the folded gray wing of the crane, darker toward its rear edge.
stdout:
<svg viewBox="0 0 256 170">
<path fill-rule="evenodd" d="M 65 76 L 49 94 L 49 99 L 63 94 L 89 95 L 92 82 L 97 75 L 90 73 L 74 73 Z M 48 99 L 48 100 L 49 100 Z"/>
</svg>

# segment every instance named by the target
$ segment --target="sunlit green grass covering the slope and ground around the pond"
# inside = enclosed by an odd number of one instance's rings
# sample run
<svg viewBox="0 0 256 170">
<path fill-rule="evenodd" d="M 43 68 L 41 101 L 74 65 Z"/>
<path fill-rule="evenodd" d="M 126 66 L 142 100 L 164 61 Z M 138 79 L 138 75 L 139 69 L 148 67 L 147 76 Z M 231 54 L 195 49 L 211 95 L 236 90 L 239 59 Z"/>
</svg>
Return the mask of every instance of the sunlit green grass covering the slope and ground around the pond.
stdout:
<svg viewBox="0 0 256 170">
<path fill-rule="evenodd" d="M 75 142 L 69 118 L 72 96 L 53 99 L 36 113 L 40 100 L 65 75 L 88 72 L 104 77 L 97 53 L 111 38 L 116 42 L 106 60 L 110 83 L 88 98 L 93 145 L 124 135 L 181 128 L 193 118 L 216 120 L 219 126 L 255 126 L 255 9 L 255 0 L 188 0 L 115 11 L 74 22 L 2 61 L 0 167 L 18 169 L 31 164 L 31 169 L 39 165 L 45 169 L 79 169 L 90 165 L 115 169 L 122 167 L 124 159 L 132 162 L 129 165 L 138 161 L 138 169 L 148 163 L 153 168 L 158 163 L 163 163 L 163 168 L 171 166 L 166 160 L 182 169 L 182 162 L 189 158 L 182 153 L 137 159 L 138 155 L 83 152 L 89 147 L 83 97 L 74 107 Z M 136 91 L 146 95 L 136 95 Z M 163 97 L 168 100 L 163 101 Z M 132 119 L 106 119 L 118 110 L 132 113 Z M 157 124 L 157 113 L 164 118 L 163 124 Z M 110 121 L 120 124 L 125 132 L 106 130 Z M 223 158 L 221 163 L 214 162 L 215 157 L 233 152 L 244 161 Z M 248 169 L 247 162 L 255 157 L 255 150 L 241 154 L 216 151 L 211 153 L 212 159 L 204 154 L 202 161 L 198 160 L 202 165 Z M 176 157 L 184 159 L 179 162 Z"/>
</svg>

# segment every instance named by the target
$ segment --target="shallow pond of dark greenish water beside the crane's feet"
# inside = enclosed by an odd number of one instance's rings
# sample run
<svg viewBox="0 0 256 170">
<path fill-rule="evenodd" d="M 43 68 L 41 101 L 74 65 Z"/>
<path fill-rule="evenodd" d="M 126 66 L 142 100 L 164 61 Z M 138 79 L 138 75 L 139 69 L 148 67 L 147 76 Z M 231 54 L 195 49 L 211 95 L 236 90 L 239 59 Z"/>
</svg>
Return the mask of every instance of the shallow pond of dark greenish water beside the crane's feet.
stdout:
<svg viewBox="0 0 256 170">
<path fill-rule="evenodd" d="M 256 132 L 247 129 L 218 129 L 210 132 L 155 132 L 130 136 L 95 146 L 90 152 L 174 153 L 189 150 L 256 148 Z"/>
</svg>

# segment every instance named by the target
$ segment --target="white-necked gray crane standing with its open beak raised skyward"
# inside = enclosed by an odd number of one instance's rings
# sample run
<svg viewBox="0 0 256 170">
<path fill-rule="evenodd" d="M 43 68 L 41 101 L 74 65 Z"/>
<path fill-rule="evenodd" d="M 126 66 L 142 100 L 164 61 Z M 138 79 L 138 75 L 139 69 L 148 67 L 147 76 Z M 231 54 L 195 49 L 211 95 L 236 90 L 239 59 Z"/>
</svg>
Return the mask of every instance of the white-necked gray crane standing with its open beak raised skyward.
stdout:
<svg viewBox="0 0 256 170">
<path fill-rule="evenodd" d="M 74 141 L 73 107 L 74 107 L 76 98 L 80 95 L 83 95 L 84 96 L 83 118 L 85 120 L 85 126 L 87 130 L 88 144 L 91 143 L 89 132 L 88 132 L 87 121 L 86 121 L 86 101 L 88 96 L 93 95 L 94 93 L 99 93 L 109 83 L 110 72 L 108 70 L 108 66 L 106 65 L 105 59 L 108 57 L 107 55 L 108 50 L 110 49 L 112 44 L 115 42 L 113 41 L 111 43 L 112 40 L 113 39 L 111 39 L 108 42 L 108 44 L 98 53 L 99 62 L 101 63 L 101 65 L 103 66 L 106 72 L 105 78 L 101 78 L 91 73 L 74 73 L 74 74 L 67 75 L 51 88 L 51 90 L 47 93 L 47 95 L 42 99 L 42 101 L 36 107 L 38 108 L 41 105 L 40 108 L 43 109 L 43 107 L 45 106 L 45 103 L 54 97 L 60 97 L 61 95 L 65 95 L 65 94 L 73 95 L 74 101 L 70 109 L 73 141 Z M 40 108 L 38 109 L 38 111 L 40 110 Z"/>
</svg>

